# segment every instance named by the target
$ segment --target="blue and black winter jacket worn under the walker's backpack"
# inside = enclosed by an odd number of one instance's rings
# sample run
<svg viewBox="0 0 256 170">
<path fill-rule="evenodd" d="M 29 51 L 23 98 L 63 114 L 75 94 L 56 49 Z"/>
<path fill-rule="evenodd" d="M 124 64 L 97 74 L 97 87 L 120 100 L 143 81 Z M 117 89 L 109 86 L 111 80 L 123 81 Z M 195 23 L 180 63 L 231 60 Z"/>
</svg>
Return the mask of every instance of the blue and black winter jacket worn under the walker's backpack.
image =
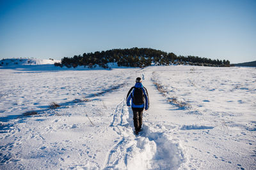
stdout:
<svg viewBox="0 0 256 170">
<path fill-rule="evenodd" d="M 148 98 L 148 91 L 145 87 L 143 87 L 142 83 L 136 83 L 134 85 L 134 87 L 136 88 L 141 88 L 142 91 L 143 91 L 143 94 L 145 96 L 145 103 L 144 104 L 141 104 L 141 105 L 136 105 L 132 102 L 132 108 L 145 108 L 145 110 L 148 110 L 149 108 L 149 98 Z M 132 87 L 128 94 L 127 94 L 127 97 L 126 97 L 126 104 L 127 106 L 131 106 L 131 99 L 132 99 L 132 96 L 134 94 L 134 87 Z"/>
</svg>

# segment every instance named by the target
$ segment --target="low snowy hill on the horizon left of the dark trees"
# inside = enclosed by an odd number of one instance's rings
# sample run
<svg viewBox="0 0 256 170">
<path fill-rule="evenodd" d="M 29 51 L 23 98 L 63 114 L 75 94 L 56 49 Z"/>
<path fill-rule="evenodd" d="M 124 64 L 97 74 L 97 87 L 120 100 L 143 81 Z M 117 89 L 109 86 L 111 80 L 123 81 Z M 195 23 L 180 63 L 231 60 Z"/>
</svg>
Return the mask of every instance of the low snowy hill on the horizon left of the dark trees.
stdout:
<svg viewBox="0 0 256 170">
<path fill-rule="evenodd" d="M 27 66 L 27 65 L 54 64 L 55 62 L 61 62 L 61 61 L 54 60 L 54 59 L 2 59 L 0 60 L 0 66 L 19 67 L 19 66 Z"/>
</svg>

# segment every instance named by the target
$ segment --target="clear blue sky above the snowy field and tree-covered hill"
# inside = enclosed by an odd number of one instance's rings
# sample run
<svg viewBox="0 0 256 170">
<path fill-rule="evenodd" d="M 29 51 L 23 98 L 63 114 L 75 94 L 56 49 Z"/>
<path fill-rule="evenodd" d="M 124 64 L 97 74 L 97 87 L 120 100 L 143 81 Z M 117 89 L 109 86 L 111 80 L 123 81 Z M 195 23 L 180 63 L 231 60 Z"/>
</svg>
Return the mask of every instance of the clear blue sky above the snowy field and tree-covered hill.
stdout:
<svg viewBox="0 0 256 170">
<path fill-rule="evenodd" d="M 256 1 L 0 0 L 0 59 L 135 46 L 256 60 Z"/>
</svg>

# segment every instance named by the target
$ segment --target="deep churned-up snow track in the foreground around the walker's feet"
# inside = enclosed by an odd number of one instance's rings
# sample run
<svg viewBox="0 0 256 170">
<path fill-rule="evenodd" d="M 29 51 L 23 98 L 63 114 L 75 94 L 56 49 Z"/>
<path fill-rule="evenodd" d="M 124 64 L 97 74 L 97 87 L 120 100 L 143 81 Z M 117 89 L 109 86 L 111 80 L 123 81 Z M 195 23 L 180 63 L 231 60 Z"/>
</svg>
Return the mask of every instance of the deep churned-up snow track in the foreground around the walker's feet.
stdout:
<svg viewBox="0 0 256 170">
<path fill-rule="evenodd" d="M 157 125 L 145 123 L 139 136 L 134 135 L 132 110 L 125 99 L 116 106 L 110 127 L 120 140 L 109 151 L 104 169 L 178 169 L 183 161 L 179 144 Z"/>
</svg>

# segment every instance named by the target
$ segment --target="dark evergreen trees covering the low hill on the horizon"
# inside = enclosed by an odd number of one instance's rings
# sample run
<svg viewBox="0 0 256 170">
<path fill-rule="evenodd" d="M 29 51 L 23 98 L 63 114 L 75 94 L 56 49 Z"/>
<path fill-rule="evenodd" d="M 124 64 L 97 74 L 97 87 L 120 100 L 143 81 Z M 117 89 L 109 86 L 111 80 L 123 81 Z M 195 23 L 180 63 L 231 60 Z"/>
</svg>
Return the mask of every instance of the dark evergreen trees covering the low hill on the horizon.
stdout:
<svg viewBox="0 0 256 170">
<path fill-rule="evenodd" d="M 113 49 L 102 52 L 83 53 L 74 57 L 64 57 L 61 63 L 55 66 L 77 67 L 88 66 L 89 68 L 99 65 L 108 68 L 109 62 L 117 62 L 118 66 L 125 67 L 147 67 L 152 64 L 155 66 L 165 66 L 170 64 L 188 64 L 193 66 L 216 66 L 229 67 L 228 60 L 212 60 L 196 56 L 177 56 L 174 53 L 166 53 L 152 48 L 130 48 Z"/>
</svg>

